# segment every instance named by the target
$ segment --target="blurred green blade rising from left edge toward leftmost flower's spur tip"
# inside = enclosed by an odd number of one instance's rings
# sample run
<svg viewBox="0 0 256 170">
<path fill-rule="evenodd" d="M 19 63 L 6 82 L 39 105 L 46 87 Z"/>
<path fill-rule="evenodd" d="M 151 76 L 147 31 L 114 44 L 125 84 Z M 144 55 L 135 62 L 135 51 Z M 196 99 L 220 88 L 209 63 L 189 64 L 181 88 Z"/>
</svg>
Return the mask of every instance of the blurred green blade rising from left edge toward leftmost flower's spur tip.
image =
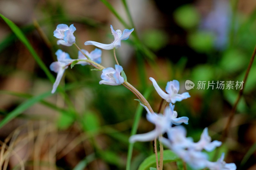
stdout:
<svg viewBox="0 0 256 170">
<path fill-rule="evenodd" d="M 4 119 L 0 122 L 0 128 L 2 128 L 6 123 L 10 122 L 12 119 L 20 115 L 23 111 L 31 107 L 32 105 L 36 104 L 37 102 L 41 101 L 42 99 L 51 96 L 51 92 L 46 92 L 43 94 L 40 94 L 38 96 L 32 97 L 28 99 L 27 101 L 20 104 L 18 107 L 16 107 L 12 112 L 10 112 Z"/>
</svg>

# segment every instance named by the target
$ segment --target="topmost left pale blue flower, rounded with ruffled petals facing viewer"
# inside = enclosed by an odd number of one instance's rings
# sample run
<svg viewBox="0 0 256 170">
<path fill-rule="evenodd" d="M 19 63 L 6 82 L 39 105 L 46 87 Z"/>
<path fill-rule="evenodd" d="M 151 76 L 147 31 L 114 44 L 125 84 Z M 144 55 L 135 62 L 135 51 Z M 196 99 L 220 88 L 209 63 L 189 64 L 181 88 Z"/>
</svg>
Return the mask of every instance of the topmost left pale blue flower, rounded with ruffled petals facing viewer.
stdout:
<svg viewBox="0 0 256 170">
<path fill-rule="evenodd" d="M 73 34 L 75 31 L 76 27 L 73 24 L 69 27 L 66 24 L 59 24 L 53 32 L 53 36 L 61 39 L 57 41 L 58 45 L 72 46 L 76 42 L 76 37 Z"/>
</svg>

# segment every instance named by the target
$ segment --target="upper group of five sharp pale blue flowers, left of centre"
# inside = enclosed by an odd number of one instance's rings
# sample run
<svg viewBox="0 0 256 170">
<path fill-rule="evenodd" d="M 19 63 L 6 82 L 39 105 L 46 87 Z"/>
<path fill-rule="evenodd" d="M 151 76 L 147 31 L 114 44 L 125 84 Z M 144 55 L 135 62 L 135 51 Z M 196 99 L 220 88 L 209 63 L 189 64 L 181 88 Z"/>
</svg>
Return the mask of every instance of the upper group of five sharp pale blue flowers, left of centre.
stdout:
<svg viewBox="0 0 256 170">
<path fill-rule="evenodd" d="M 125 29 L 122 33 L 121 30 L 114 30 L 113 26 L 110 26 L 111 32 L 114 36 L 114 41 L 111 44 L 101 44 L 99 42 L 95 41 L 86 41 L 85 45 L 94 45 L 96 47 L 102 48 L 102 49 L 113 49 L 113 48 L 119 48 L 121 47 L 121 41 L 127 40 L 132 33 L 133 29 L 128 30 Z M 64 45 L 64 46 L 72 46 L 74 43 L 76 43 L 76 37 L 74 36 L 74 32 L 76 31 L 76 27 L 72 24 L 68 27 L 66 24 L 59 24 L 56 28 L 56 30 L 53 32 L 53 36 L 60 39 L 57 41 L 58 45 Z M 81 49 L 78 51 L 78 59 L 71 59 L 68 53 L 63 52 L 62 50 L 58 50 L 56 53 L 57 55 L 57 62 L 53 62 L 50 66 L 50 69 L 57 73 L 56 81 L 53 84 L 52 87 L 52 93 L 54 93 L 60 84 L 60 80 L 64 74 L 64 71 L 68 68 L 68 65 L 70 65 L 74 61 L 78 61 L 76 64 L 81 65 L 88 65 L 92 62 L 101 63 L 101 54 L 102 51 L 98 48 L 95 48 L 91 53 L 88 51 Z M 79 61 L 79 60 L 88 60 L 88 61 Z M 93 65 L 93 64 L 92 64 Z M 120 75 L 121 71 L 123 70 L 123 67 L 120 65 L 115 65 L 114 68 L 104 68 L 102 69 L 102 80 L 100 81 L 100 84 L 106 84 L 106 85 L 121 85 L 124 83 L 124 78 Z"/>
</svg>

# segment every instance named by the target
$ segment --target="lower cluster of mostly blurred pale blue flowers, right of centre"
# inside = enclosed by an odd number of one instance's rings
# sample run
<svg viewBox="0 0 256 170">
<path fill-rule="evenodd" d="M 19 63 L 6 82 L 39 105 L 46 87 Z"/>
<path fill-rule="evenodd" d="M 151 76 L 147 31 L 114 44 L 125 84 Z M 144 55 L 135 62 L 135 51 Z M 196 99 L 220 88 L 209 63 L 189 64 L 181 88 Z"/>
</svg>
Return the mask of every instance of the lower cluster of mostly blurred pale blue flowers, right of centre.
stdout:
<svg viewBox="0 0 256 170">
<path fill-rule="evenodd" d="M 156 128 L 145 134 L 137 134 L 130 137 L 130 142 L 136 141 L 152 141 L 160 135 L 167 133 L 168 138 L 160 138 L 160 142 L 166 145 L 174 153 L 176 153 L 181 159 L 188 163 L 195 169 L 206 168 L 210 170 L 236 170 L 234 163 L 226 164 L 224 154 L 217 162 L 210 162 L 208 156 L 203 150 L 207 152 L 213 151 L 216 147 L 221 145 L 220 141 L 212 141 L 208 135 L 208 129 L 205 128 L 201 138 L 198 142 L 193 142 L 193 139 L 186 137 L 186 129 L 181 126 L 181 123 L 188 124 L 188 117 L 177 118 L 177 112 L 174 111 L 174 105 L 176 101 L 181 101 L 190 97 L 188 92 L 178 94 L 179 82 L 173 80 L 167 83 L 165 93 L 156 83 L 154 78 L 149 78 L 153 82 L 153 86 L 156 92 L 167 102 L 170 102 L 169 107 L 164 109 L 164 114 L 150 113 L 148 108 L 142 105 L 147 110 L 147 119 L 149 122 L 155 124 Z M 179 125 L 174 126 L 172 125 Z"/>
</svg>

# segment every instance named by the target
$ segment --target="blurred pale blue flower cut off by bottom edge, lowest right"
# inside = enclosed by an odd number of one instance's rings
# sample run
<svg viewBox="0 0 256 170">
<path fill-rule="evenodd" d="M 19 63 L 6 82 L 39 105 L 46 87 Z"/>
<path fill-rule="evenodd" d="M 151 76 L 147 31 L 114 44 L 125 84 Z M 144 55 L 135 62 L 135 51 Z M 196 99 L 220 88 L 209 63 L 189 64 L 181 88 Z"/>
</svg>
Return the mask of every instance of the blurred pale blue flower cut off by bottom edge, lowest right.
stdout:
<svg viewBox="0 0 256 170">
<path fill-rule="evenodd" d="M 222 153 L 220 159 L 217 162 L 207 162 L 207 167 L 210 170 L 236 170 L 236 164 L 234 163 L 226 163 L 224 161 L 224 153 Z"/>
</svg>

